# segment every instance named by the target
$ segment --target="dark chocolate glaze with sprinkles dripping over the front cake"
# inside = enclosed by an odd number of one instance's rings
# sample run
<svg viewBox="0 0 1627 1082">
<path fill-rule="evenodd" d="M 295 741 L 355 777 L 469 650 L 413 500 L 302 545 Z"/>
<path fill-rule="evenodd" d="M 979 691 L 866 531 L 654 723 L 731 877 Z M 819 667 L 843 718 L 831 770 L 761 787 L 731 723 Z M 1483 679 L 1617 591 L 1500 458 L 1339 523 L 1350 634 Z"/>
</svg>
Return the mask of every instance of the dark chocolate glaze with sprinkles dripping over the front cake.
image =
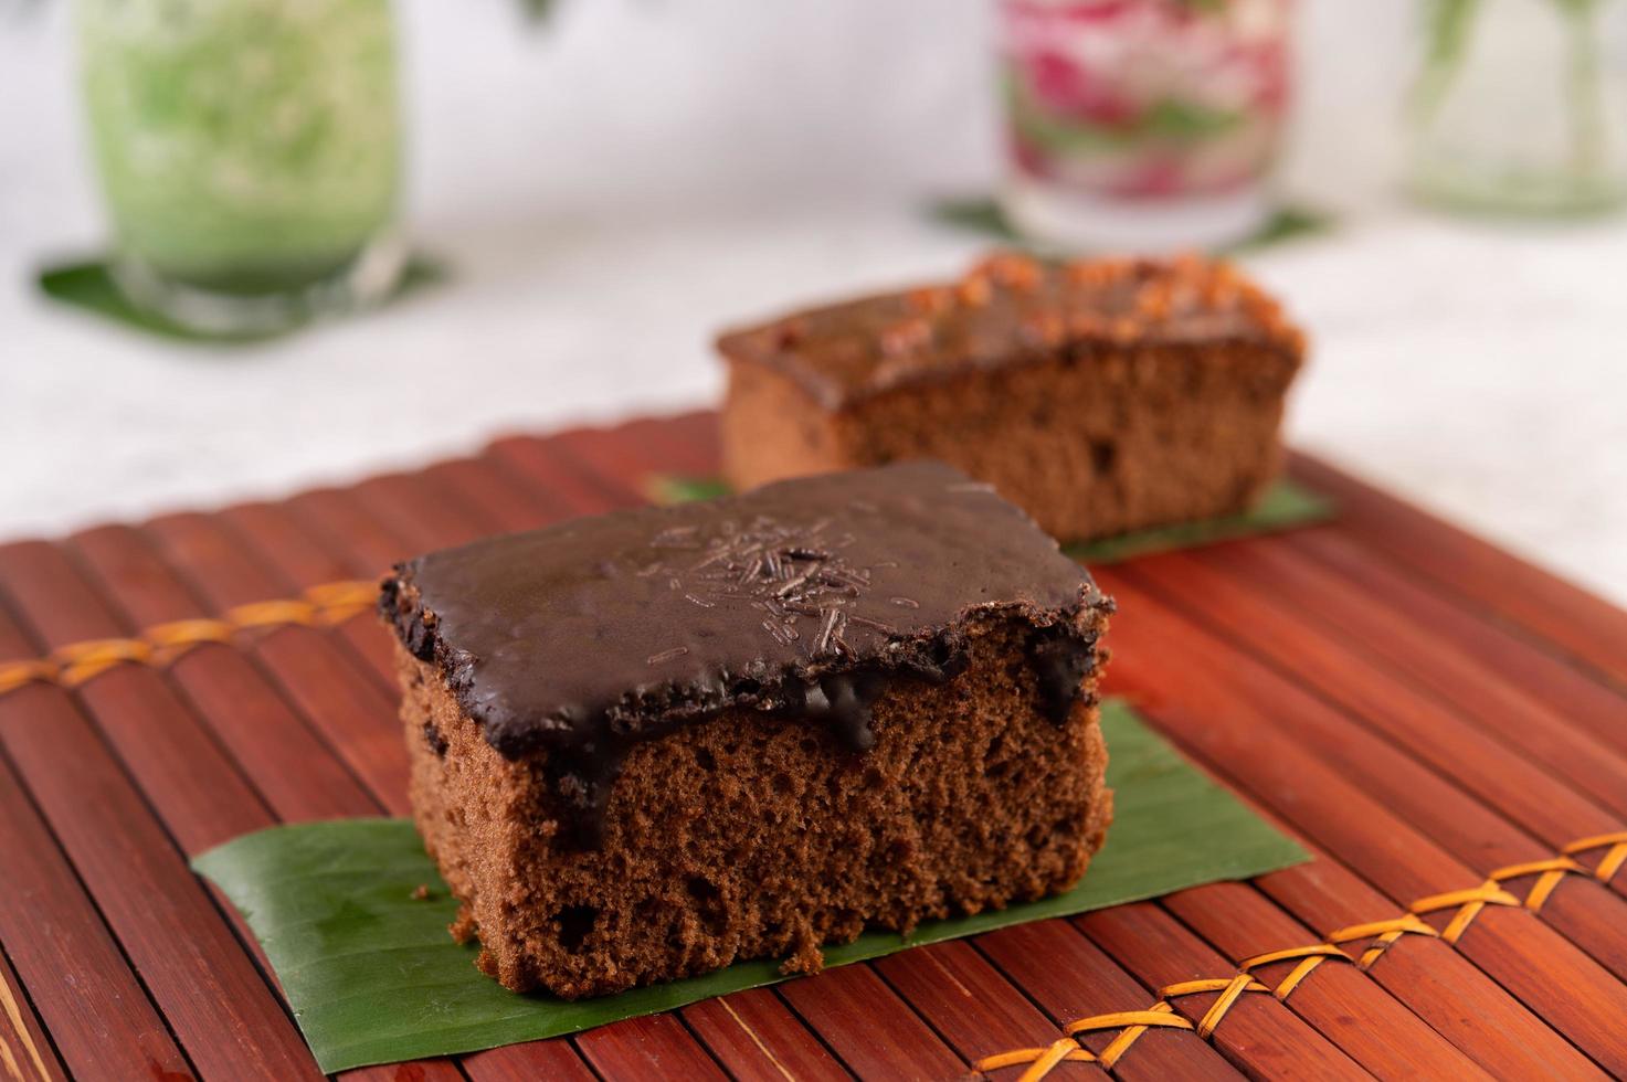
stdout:
<svg viewBox="0 0 1627 1082">
<path fill-rule="evenodd" d="M 499 753 L 548 750 L 587 843 L 630 744 L 744 706 L 862 752 L 875 698 L 952 677 L 979 610 L 1035 626 L 1061 722 L 1095 648 L 1080 615 L 1110 605 L 1022 511 L 936 462 L 495 537 L 399 565 L 381 597 Z"/>
</svg>

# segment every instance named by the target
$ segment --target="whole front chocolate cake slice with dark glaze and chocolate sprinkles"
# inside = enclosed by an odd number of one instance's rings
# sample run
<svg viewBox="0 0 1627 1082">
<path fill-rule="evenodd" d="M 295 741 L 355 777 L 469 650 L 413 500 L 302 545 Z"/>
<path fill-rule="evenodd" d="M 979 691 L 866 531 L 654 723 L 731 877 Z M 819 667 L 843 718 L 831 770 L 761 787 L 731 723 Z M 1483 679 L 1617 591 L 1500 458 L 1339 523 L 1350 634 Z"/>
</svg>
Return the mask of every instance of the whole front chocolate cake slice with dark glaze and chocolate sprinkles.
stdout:
<svg viewBox="0 0 1627 1082">
<path fill-rule="evenodd" d="M 412 804 L 506 988 L 822 965 L 1072 885 L 1111 602 L 934 462 L 622 511 L 384 581 Z"/>
</svg>

